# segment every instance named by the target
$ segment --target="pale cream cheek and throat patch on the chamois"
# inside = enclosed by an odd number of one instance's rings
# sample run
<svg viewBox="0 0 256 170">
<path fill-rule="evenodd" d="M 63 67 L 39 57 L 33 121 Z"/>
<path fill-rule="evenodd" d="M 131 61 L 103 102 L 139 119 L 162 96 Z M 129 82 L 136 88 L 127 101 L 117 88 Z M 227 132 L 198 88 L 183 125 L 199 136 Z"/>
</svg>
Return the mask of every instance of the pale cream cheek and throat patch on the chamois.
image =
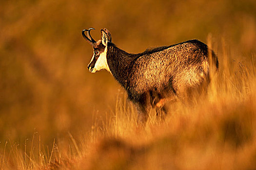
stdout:
<svg viewBox="0 0 256 170">
<path fill-rule="evenodd" d="M 99 54 L 98 60 L 96 61 L 92 72 L 95 73 L 96 71 L 99 71 L 101 69 L 106 69 L 111 73 L 107 63 L 107 46 L 105 47 L 105 50 L 101 54 Z"/>
</svg>

